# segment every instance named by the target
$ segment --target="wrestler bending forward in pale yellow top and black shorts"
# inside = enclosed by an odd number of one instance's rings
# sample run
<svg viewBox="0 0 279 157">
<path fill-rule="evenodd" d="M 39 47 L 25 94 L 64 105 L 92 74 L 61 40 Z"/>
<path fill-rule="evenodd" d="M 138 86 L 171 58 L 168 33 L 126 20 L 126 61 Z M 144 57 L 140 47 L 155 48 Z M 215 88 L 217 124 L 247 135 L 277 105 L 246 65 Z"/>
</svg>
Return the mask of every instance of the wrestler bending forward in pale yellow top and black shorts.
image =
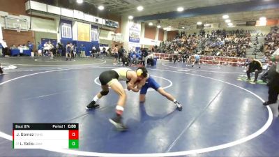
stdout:
<svg viewBox="0 0 279 157">
<path fill-rule="evenodd" d="M 116 117 L 110 119 L 110 122 L 120 130 L 126 130 L 127 127 L 123 125 L 121 115 L 123 114 L 124 107 L 126 104 L 126 92 L 123 89 L 123 86 L 119 81 L 127 82 L 127 89 L 134 92 L 138 92 L 141 88 L 140 85 L 135 87 L 136 82 L 144 84 L 145 78 L 147 77 L 147 70 L 145 67 L 137 68 L 136 71 L 131 70 L 130 68 L 114 68 L 112 70 L 104 71 L 100 74 L 99 80 L 101 83 L 102 91 L 100 91 L 89 105 L 86 106 L 86 110 L 91 110 L 100 107 L 96 104 L 97 100 L 106 96 L 109 93 L 109 87 L 112 88 L 116 94 L 119 95 L 119 100 L 116 105 Z"/>
</svg>

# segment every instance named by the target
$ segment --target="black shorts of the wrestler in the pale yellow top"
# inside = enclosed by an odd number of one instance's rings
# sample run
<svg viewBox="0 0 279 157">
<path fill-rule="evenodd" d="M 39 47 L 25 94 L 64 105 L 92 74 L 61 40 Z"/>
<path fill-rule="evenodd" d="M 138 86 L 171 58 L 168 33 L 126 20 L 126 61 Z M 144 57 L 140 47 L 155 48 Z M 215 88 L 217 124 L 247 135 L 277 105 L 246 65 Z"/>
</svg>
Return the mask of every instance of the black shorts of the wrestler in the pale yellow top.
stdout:
<svg viewBox="0 0 279 157">
<path fill-rule="evenodd" d="M 119 75 L 114 70 L 107 70 L 100 74 L 99 80 L 102 86 L 111 85 L 115 81 L 118 81 Z"/>
</svg>

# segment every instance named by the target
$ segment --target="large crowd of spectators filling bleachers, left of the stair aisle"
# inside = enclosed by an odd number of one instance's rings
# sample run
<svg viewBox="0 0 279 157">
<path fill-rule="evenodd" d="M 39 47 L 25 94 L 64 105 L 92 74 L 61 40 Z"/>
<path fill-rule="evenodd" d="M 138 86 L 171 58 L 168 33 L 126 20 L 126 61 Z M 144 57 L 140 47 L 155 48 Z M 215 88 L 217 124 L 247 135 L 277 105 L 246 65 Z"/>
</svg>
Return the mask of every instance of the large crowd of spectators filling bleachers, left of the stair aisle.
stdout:
<svg viewBox="0 0 279 157">
<path fill-rule="evenodd" d="M 216 30 L 205 33 L 186 34 L 181 32 L 172 41 L 162 42 L 158 52 L 172 54 L 179 53 L 204 54 L 206 56 L 246 57 L 246 50 L 252 45 L 251 34 L 248 31 Z"/>
</svg>

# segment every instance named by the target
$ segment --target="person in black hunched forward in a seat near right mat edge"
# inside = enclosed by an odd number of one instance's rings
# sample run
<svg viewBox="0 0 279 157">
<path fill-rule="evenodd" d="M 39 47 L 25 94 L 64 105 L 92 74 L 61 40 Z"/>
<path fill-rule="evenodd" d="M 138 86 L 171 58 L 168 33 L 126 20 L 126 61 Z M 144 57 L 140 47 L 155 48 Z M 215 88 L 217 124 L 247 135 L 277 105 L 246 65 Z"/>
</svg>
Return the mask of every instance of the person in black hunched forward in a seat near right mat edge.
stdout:
<svg viewBox="0 0 279 157">
<path fill-rule="evenodd" d="M 251 80 L 250 73 L 255 72 L 254 82 L 257 82 L 257 76 L 259 75 L 259 73 L 262 73 L 262 63 L 257 59 L 251 57 L 250 63 L 248 63 L 247 66 L 248 66 L 248 70 L 246 71 L 248 77 L 247 80 Z"/>
</svg>

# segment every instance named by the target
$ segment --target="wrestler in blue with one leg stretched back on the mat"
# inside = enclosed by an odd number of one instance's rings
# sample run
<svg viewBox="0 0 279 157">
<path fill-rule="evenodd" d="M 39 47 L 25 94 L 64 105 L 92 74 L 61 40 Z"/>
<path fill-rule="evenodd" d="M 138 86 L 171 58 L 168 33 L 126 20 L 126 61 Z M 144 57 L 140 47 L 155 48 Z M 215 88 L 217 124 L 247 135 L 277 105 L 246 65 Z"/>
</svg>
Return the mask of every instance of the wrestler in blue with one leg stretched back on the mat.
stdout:
<svg viewBox="0 0 279 157">
<path fill-rule="evenodd" d="M 140 82 L 142 83 L 142 82 Z M 153 88 L 154 90 L 158 91 L 159 94 L 162 96 L 165 96 L 165 98 L 171 100 L 174 102 L 174 105 L 176 105 L 177 110 L 182 110 L 182 105 L 172 96 L 171 94 L 167 93 L 160 85 L 149 75 L 146 76 L 146 82 L 143 82 L 143 84 L 140 84 L 140 103 L 145 102 L 145 95 L 147 93 L 147 89 Z"/>
</svg>

